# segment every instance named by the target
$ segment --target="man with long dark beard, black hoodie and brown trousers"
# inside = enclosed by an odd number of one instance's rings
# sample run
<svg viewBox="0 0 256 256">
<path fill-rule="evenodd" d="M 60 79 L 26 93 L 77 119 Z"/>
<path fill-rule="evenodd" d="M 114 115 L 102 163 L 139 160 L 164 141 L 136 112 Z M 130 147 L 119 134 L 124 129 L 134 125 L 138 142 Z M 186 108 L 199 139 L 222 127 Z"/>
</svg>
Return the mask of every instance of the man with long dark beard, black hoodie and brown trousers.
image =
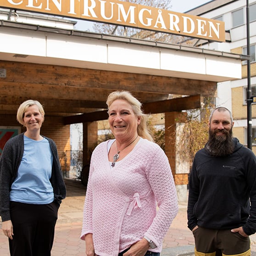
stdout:
<svg viewBox="0 0 256 256">
<path fill-rule="evenodd" d="M 256 232 L 256 156 L 232 135 L 232 113 L 211 112 L 209 140 L 189 178 L 188 227 L 195 256 L 250 256 Z"/>
</svg>

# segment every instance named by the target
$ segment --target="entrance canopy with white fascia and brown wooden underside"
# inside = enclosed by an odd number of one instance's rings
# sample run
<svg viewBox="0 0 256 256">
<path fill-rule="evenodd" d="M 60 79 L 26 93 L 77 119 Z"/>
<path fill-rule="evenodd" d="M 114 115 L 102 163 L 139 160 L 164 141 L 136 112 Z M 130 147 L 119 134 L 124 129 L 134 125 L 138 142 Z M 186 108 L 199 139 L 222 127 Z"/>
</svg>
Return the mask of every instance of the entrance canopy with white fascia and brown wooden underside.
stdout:
<svg viewBox="0 0 256 256">
<path fill-rule="evenodd" d="M 217 82 L 241 78 L 246 57 L 7 20 L 0 20 L 0 42 L 0 114 L 15 114 L 32 98 L 65 118 L 106 109 L 118 89 L 157 102 L 152 113 L 169 95 L 214 96 Z"/>
</svg>

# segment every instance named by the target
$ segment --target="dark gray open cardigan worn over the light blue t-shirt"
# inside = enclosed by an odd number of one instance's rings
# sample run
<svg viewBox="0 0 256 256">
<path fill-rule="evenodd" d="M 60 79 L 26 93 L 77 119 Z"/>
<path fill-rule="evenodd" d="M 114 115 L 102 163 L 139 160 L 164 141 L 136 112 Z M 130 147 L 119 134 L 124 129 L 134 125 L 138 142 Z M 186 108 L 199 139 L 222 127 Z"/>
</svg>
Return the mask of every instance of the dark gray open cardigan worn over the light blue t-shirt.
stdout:
<svg viewBox="0 0 256 256">
<path fill-rule="evenodd" d="M 49 141 L 53 154 L 53 164 L 50 183 L 53 187 L 55 201 L 59 204 L 66 197 L 66 186 L 63 180 L 57 147 L 52 139 Z M 19 134 L 6 142 L 0 156 L 0 215 L 2 221 L 11 219 L 10 216 L 10 190 L 15 180 L 24 152 L 24 134 Z"/>
</svg>

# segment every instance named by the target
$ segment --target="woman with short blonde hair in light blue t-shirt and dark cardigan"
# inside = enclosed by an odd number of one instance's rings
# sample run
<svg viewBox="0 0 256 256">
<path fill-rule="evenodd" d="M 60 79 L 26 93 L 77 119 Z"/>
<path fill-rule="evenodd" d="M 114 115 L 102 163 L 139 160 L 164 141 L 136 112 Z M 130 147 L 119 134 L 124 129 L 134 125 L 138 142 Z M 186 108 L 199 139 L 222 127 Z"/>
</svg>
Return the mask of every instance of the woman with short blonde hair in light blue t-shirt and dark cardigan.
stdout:
<svg viewBox="0 0 256 256">
<path fill-rule="evenodd" d="M 17 121 L 26 132 L 9 139 L 0 157 L 0 215 L 11 256 L 50 256 L 66 186 L 55 142 L 40 134 L 37 100 L 24 101 Z"/>
</svg>

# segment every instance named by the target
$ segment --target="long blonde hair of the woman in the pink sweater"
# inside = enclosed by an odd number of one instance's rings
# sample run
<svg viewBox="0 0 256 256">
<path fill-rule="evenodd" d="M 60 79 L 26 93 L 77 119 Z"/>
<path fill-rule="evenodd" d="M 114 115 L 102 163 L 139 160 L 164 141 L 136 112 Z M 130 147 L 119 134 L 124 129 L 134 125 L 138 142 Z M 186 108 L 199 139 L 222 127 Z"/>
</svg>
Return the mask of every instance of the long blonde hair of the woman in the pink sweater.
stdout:
<svg viewBox="0 0 256 256">
<path fill-rule="evenodd" d="M 138 135 L 143 139 L 154 141 L 147 128 L 148 115 L 144 114 L 141 110 L 142 103 L 140 103 L 139 100 L 137 100 L 128 91 L 115 91 L 109 94 L 107 97 L 106 104 L 108 106 L 108 109 L 115 100 L 125 100 L 132 106 L 135 116 L 140 117 L 140 124 L 137 127 Z"/>
</svg>

